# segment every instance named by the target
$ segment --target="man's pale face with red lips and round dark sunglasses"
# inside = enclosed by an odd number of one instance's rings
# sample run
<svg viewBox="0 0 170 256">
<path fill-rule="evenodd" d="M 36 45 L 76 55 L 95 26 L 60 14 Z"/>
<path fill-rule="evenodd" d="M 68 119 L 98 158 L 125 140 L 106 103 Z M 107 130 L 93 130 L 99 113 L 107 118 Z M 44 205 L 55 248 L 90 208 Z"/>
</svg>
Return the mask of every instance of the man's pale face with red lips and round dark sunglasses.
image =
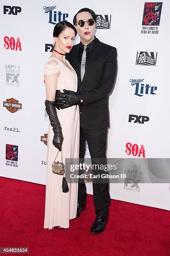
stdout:
<svg viewBox="0 0 170 256">
<path fill-rule="evenodd" d="M 79 22 L 79 20 L 89 20 L 90 18 L 93 18 L 91 13 L 89 12 L 82 12 L 78 13 L 76 16 L 76 23 Z M 87 22 L 85 22 L 85 25 L 83 27 L 80 27 L 78 24 L 75 26 L 77 33 L 80 36 L 80 39 L 82 43 L 89 44 L 94 39 L 94 32 L 96 29 L 96 24 L 94 23 L 93 26 L 89 26 Z"/>
</svg>

